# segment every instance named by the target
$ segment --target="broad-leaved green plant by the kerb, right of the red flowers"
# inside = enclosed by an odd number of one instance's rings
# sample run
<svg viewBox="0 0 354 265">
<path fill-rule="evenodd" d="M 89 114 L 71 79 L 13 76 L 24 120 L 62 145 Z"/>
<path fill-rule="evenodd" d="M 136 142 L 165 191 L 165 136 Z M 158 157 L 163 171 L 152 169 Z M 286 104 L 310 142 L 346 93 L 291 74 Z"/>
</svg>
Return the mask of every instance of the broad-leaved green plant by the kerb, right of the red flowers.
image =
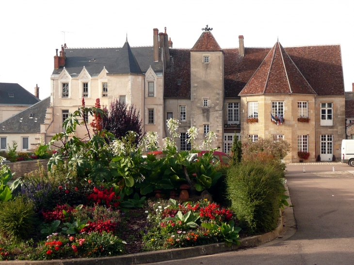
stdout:
<svg viewBox="0 0 354 265">
<path fill-rule="evenodd" d="M 240 227 L 234 227 L 235 222 L 230 220 L 228 223 L 223 223 L 222 225 L 212 224 L 212 223 L 201 223 L 201 226 L 209 229 L 211 231 L 220 232 L 225 240 L 227 246 L 231 246 L 232 243 L 240 245 L 239 232 Z"/>
</svg>

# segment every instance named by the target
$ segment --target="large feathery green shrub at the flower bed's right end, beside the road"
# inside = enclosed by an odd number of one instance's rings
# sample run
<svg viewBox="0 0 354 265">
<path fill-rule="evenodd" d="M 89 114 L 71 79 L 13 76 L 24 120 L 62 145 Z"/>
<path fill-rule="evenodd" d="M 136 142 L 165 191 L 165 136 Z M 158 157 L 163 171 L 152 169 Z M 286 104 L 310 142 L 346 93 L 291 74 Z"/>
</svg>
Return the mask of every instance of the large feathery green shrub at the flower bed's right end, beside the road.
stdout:
<svg viewBox="0 0 354 265">
<path fill-rule="evenodd" d="M 284 171 L 279 165 L 257 159 L 230 167 L 228 197 L 243 230 L 255 234 L 276 227 L 279 198 L 284 194 L 282 177 Z"/>
</svg>

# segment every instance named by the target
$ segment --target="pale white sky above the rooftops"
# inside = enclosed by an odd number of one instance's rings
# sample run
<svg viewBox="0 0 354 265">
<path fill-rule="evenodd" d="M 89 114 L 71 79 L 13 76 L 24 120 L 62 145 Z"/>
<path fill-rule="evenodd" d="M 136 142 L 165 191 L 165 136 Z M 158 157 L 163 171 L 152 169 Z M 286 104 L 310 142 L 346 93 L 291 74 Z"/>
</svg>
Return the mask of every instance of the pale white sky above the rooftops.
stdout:
<svg viewBox="0 0 354 265">
<path fill-rule="evenodd" d="M 222 48 L 340 44 L 345 91 L 354 82 L 351 0 L 0 0 L 0 82 L 50 95 L 55 49 L 152 46 L 153 29 L 192 48 L 208 24 Z M 65 31 L 65 34 L 63 33 Z"/>
</svg>

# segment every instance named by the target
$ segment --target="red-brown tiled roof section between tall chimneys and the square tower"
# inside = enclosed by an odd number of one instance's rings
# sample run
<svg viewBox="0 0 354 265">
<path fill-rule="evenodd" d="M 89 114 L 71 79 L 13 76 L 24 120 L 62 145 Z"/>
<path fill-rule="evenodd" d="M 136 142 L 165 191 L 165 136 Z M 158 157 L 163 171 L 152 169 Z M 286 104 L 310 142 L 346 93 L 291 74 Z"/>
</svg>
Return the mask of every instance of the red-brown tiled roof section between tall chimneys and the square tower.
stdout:
<svg viewBox="0 0 354 265">
<path fill-rule="evenodd" d="M 191 97 L 191 52 L 170 49 L 170 67 L 165 71 L 164 97 Z M 181 84 L 178 84 L 181 80 Z"/>
</svg>

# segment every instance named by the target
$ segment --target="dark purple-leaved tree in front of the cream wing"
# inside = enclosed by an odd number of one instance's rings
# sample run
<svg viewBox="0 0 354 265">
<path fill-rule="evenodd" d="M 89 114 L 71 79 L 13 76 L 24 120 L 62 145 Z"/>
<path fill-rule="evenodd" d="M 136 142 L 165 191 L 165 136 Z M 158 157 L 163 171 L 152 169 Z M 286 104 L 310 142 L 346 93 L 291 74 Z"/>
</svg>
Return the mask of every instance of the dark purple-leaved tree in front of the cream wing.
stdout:
<svg viewBox="0 0 354 265">
<path fill-rule="evenodd" d="M 107 115 L 102 117 L 102 129 L 113 133 L 116 139 L 121 140 L 129 131 L 138 134 L 139 140 L 142 136 L 142 120 L 140 111 L 134 105 L 128 106 L 127 103 L 115 99 L 110 104 L 109 111 L 104 108 Z"/>
</svg>

